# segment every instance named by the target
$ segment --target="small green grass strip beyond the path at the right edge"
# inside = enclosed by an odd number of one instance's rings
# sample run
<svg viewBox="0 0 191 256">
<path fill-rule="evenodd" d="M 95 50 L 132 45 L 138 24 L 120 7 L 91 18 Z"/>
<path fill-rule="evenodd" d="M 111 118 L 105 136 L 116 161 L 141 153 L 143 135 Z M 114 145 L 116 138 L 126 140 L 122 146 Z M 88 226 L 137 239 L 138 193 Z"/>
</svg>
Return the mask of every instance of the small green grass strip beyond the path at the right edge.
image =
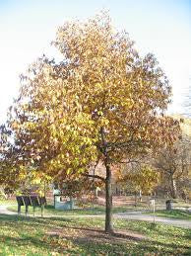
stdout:
<svg viewBox="0 0 191 256">
<path fill-rule="evenodd" d="M 150 213 L 153 214 L 152 212 L 150 212 Z M 171 211 L 158 210 L 156 212 L 156 215 L 191 220 L 191 213 L 188 211 L 183 211 L 183 210 L 175 210 L 175 209 L 171 210 Z"/>
</svg>

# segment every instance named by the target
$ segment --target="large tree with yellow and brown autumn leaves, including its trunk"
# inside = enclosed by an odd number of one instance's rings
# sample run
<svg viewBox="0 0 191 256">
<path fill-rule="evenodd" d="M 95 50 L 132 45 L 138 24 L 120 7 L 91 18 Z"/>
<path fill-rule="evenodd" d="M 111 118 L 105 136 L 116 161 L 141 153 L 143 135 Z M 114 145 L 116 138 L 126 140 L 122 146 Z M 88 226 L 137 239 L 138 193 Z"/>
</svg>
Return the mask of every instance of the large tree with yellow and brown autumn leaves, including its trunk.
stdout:
<svg viewBox="0 0 191 256">
<path fill-rule="evenodd" d="M 23 164 L 54 179 L 92 177 L 105 185 L 105 231 L 112 231 L 112 168 L 172 143 L 178 122 L 164 117 L 171 88 L 153 54 L 141 57 L 107 15 L 65 23 L 45 56 L 22 76 L 9 126 Z M 101 161 L 105 175 L 94 173 Z M 90 171 L 90 169 L 93 169 Z"/>
</svg>

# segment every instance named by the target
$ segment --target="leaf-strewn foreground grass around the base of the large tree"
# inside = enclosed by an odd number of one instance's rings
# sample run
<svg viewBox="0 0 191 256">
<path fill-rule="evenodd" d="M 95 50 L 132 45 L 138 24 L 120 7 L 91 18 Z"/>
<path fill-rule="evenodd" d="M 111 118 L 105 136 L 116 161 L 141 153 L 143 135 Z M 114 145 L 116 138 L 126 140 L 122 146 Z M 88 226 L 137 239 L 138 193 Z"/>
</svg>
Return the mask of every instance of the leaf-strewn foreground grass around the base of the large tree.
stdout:
<svg viewBox="0 0 191 256">
<path fill-rule="evenodd" d="M 190 255 L 191 231 L 146 221 L 0 214 L 0 255 Z M 123 235 L 120 235 L 123 234 Z M 140 234 L 144 235 L 141 238 Z"/>
</svg>

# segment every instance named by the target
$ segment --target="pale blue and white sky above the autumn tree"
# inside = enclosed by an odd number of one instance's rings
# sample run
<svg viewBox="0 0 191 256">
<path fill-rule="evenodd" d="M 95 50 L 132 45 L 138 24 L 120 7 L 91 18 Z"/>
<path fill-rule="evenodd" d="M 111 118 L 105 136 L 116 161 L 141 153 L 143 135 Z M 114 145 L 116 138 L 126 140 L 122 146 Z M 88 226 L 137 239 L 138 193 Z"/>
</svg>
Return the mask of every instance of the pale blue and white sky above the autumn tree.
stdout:
<svg viewBox="0 0 191 256">
<path fill-rule="evenodd" d="M 191 0 L 0 0 L 0 123 L 17 98 L 19 75 L 43 53 L 58 55 L 50 45 L 57 28 L 102 9 L 142 55 L 156 55 L 173 90 L 169 113 L 183 112 L 191 84 Z"/>
</svg>

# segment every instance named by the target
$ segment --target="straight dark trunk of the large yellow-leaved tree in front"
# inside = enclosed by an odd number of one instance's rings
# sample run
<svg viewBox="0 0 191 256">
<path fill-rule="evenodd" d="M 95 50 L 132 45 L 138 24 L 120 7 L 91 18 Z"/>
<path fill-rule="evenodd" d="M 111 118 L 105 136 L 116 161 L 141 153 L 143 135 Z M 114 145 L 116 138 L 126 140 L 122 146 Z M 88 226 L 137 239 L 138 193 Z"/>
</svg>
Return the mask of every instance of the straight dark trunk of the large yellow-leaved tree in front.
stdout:
<svg viewBox="0 0 191 256">
<path fill-rule="evenodd" d="M 111 170 L 106 166 L 105 179 L 105 232 L 112 233 L 112 189 L 111 189 Z"/>
</svg>

